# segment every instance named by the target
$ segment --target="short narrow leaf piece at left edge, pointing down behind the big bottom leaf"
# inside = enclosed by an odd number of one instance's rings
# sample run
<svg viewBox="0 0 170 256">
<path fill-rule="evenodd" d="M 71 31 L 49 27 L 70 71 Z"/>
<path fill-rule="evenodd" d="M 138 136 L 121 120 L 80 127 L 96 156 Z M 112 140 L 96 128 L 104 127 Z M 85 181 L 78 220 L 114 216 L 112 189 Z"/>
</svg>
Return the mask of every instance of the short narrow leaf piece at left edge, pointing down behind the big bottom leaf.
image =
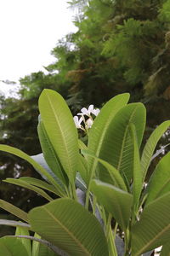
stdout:
<svg viewBox="0 0 170 256">
<path fill-rule="evenodd" d="M 8 201 L 0 200 L 0 207 L 3 208 L 3 210 L 12 213 L 14 216 L 28 222 L 28 214 L 18 207 L 14 207 L 14 205 L 8 203 Z"/>
</svg>

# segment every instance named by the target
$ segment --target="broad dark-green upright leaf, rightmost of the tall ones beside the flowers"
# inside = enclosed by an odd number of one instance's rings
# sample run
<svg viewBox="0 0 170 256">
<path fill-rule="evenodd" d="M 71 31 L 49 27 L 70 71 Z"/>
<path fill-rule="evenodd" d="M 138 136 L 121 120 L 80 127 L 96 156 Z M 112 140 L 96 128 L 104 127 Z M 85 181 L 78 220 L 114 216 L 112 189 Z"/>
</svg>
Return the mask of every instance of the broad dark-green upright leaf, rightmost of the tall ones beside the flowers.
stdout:
<svg viewBox="0 0 170 256">
<path fill-rule="evenodd" d="M 145 108 L 141 103 L 132 103 L 116 113 L 99 152 L 99 158 L 109 162 L 128 181 L 133 177 L 133 143 L 129 131 L 131 123 L 135 125 L 140 146 L 145 127 Z"/>
</svg>

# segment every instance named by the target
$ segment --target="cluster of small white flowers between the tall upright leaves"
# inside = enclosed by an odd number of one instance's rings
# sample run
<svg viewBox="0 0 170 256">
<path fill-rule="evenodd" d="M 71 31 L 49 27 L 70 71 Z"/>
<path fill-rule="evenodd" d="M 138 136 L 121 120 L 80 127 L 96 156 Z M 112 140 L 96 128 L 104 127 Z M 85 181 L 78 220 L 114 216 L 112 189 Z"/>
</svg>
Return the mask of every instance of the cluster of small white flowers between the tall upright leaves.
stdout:
<svg viewBox="0 0 170 256">
<path fill-rule="evenodd" d="M 94 108 L 94 105 L 90 105 L 88 109 L 82 108 L 81 113 L 77 113 L 73 118 L 77 128 L 82 129 L 83 131 L 87 131 L 87 129 L 91 128 L 94 123 L 92 113 L 97 116 L 99 114 L 99 108 Z M 80 116 L 80 118 L 78 116 Z M 88 117 L 87 120 L 85 119 L 85 116 Z M 85 128 L 81 125 L 82 122 L 84 123 Z"/>
</svg>

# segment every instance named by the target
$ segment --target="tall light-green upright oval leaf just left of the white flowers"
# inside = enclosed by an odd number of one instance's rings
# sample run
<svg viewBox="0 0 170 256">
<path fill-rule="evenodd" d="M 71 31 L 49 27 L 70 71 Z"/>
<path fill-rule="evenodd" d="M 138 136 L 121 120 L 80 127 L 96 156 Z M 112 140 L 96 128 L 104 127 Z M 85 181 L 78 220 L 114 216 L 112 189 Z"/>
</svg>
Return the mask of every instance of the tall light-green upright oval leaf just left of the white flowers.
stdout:
<svg viewBox="0 0 170 256">
<path fill-rule="evenodd" d="M 77 173 L 78 135 L 71 111 L 54 90 L 43 90 L 39 110 L 45 131 L 67 176 L 74 183 Z"/>
</svg>

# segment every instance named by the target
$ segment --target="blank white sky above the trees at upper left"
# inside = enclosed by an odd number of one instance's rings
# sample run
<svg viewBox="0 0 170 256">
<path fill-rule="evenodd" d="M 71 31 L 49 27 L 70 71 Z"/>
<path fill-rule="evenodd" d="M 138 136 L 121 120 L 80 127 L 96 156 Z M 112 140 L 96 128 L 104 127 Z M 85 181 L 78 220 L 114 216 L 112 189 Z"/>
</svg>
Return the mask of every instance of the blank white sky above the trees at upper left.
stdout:
<svg viewBox="0 0 170 256">
<path fill-rule="evenodd" d="M 54 61 L 57 41 L 76 31 L 67 1 L 0 0 L 0 80 L 17 81 Z M 10 88 L 0 82 L 3 92 Z"/>
</svg>

